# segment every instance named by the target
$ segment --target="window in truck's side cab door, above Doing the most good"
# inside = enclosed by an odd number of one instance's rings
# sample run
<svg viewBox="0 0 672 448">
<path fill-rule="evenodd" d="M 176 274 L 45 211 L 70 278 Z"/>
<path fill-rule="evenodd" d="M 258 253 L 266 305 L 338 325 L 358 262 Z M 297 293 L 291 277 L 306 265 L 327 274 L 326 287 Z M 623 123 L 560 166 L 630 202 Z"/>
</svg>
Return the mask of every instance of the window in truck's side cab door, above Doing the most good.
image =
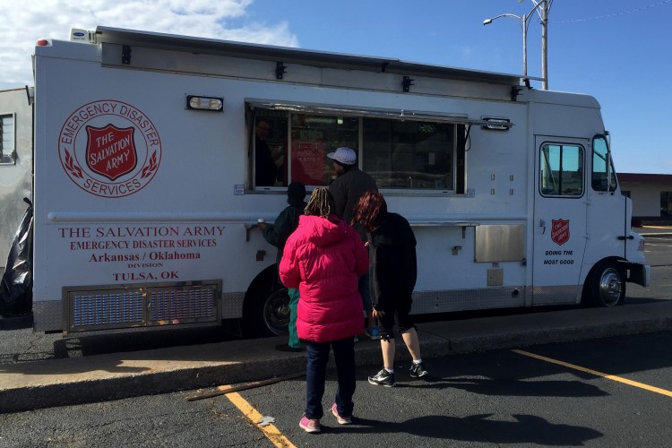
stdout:
<svg viewBox="0 0 672 448">
<path fill-rule="evenodd" d="M 539 191 L 544 196 L 583 194 L 583 148 L 547 143 L 539 157 Z"/>
</svg>

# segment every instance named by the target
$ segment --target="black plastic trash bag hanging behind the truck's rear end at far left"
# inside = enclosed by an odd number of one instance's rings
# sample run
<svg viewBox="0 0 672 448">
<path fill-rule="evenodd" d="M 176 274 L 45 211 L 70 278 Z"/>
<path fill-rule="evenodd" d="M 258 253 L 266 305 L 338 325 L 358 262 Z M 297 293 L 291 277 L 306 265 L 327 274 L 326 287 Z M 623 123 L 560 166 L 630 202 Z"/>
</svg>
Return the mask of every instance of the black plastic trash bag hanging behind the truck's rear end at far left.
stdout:
<svg viewBox="0 0 672 448">
<path fill-rule="evenodd" d="M 0 283 L 0 316 L 15 317 L 32 312 L 32 202 L 28 204 L 14 236 Z"/>
</svg>

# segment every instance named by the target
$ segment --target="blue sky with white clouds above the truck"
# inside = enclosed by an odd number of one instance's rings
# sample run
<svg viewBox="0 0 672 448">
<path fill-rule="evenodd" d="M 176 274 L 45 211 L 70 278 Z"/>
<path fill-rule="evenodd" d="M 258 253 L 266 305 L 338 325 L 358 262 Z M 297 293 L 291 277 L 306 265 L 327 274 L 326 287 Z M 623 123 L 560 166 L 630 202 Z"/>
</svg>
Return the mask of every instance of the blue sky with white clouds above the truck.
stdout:
<svg viewBox="0 0 672 448">
<path fill-rule="evenodd" d="M 0 90 L 31 84 L 30 53 L 43 37 L 98 25 L 215 39 L 388 56 L 522 73 L 520 21 L 532 0 L 0 0 Z M 106 2 L 108 4 L 108 2 Z M 672 174 L 666 127 L 672 103 L 672 0 L 553 0 L 548 86 L 588 93 L 602 106 L 616 170 Z M 538 17 L 528 30 L 528 74 L 541 76 Z M 541 88 L 540 82 L 532 85 Z"/>
</svg>

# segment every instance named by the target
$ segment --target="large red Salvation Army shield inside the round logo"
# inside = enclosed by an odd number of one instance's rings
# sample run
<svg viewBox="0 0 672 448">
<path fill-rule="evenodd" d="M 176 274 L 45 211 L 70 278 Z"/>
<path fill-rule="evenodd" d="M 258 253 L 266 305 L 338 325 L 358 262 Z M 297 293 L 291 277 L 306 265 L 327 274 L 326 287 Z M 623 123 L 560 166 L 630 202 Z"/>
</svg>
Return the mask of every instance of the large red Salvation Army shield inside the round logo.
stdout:
<svg viewBox="0 0 672 448">
<path fill-rule="evenodd" d="M 86 126 L 86 164 L 90 170 L 111 181 L 133 171 L 138 162 L 134 131 L 134 127 L 120 129 L 115 125 Z"/>
</svg>

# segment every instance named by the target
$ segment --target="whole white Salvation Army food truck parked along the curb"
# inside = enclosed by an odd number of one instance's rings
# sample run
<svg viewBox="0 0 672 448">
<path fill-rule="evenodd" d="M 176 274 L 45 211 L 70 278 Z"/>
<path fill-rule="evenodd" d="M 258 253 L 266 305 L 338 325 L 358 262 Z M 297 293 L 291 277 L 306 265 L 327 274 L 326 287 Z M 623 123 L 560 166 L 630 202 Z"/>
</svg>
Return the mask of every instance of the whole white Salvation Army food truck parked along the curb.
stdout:
<svg viewBox="0 0 672 448">
<path fill-rule="evenodd" d="M 414 228 L 416 314 L 616 306 L 649 284 L 590 96 L 385 57 L 87 36 L 35 48 L 37 331 L 280 334 L 276 249 L 255 223 L 290 182 L 328 185 L 340 146 Z"/>
</svg>

